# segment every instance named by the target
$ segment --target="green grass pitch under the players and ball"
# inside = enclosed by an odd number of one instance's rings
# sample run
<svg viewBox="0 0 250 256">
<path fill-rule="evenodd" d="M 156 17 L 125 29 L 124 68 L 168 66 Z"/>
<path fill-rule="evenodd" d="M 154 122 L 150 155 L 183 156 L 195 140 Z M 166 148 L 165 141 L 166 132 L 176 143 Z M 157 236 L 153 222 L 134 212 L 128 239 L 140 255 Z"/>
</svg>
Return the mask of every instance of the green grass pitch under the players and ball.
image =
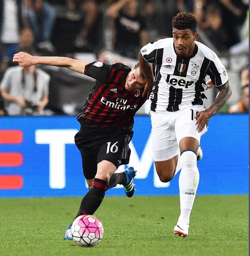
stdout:
<svg viewBox="0 0 250 256">
<path fill-rule="evenodd" d="M 0 255 L 243 256 L 249 253 L 248 195 L 197 196 L 186 238 L 173 228 L 178 196 L 106 197 L 94 214 L 104 226 L 97 246 L 63 240 L 81 198 L 0 199 Z"/>
</svg>

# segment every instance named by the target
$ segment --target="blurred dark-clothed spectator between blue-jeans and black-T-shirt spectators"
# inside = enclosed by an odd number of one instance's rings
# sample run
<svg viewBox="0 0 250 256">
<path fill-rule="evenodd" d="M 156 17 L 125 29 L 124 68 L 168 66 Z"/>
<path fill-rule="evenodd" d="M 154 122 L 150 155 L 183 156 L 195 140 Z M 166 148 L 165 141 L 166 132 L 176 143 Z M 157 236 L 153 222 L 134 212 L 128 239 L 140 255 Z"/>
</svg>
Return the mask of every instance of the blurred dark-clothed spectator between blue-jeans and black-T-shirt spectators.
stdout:
<svg viewBox="0 0 250 256">
<path fill-rule="evenodd" d="M 103 14 L 98 1 L 78 0 L 75 5 L 79 6 L 83 17 L 81 29 L 75 39 L 75 46 L 81 51 L 97 54 L 103 46 Z"/>
</svg>

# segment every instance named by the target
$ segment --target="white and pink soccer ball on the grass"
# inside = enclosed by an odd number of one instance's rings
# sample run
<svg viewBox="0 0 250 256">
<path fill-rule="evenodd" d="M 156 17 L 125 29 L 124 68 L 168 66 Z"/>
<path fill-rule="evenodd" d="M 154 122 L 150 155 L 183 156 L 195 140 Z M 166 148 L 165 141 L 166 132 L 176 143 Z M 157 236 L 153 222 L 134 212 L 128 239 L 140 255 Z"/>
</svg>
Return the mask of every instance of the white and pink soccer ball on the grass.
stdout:
<svg viewBox="0 0 250 256">
<path fill-rule="evenodd" d="M 81 215 L 73 221 L 71 234 L 77 245 L 95 246 L 103 237 L 103 225 L 92 215 Z"/>
</svg>

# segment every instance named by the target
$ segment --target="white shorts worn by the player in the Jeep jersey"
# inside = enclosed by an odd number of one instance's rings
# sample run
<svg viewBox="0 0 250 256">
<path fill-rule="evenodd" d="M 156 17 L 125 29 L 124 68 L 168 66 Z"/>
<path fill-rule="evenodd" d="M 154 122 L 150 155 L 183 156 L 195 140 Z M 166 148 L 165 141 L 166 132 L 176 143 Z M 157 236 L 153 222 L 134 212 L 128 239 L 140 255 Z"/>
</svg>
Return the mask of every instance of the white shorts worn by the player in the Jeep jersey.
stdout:
<svg viewBox="0 0 250 256">
<path fill-rule="evenodd" d="M 207 131 L 196 131 L 197 112 L 205 110 L 204 106 L 191 106 L 175 112 L 149 111 L 152 124 L 152 150 L 154 161 L 165 161 L 179 153 L 179 142 L 182 138 L 193 137 L 200 144 L 200 137 Z"/>
</svg>

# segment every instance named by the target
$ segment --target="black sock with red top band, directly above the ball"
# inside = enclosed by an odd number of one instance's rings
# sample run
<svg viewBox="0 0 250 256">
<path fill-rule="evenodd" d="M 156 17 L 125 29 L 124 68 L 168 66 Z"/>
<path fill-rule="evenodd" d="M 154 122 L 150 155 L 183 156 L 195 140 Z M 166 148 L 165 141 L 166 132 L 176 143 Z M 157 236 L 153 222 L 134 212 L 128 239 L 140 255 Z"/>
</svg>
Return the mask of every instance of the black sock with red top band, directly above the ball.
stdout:
<svg viewBox="0 0 250 256">
<path fill-rule="evenodd" d="M 101 179 L 94 179 L 93 187 L 82 198 L 81 205 L 76 217 L 82 214 L 94 214 L 103 201 L 105 191 L 107 190 L 107 182 Z"/>
</svg>

